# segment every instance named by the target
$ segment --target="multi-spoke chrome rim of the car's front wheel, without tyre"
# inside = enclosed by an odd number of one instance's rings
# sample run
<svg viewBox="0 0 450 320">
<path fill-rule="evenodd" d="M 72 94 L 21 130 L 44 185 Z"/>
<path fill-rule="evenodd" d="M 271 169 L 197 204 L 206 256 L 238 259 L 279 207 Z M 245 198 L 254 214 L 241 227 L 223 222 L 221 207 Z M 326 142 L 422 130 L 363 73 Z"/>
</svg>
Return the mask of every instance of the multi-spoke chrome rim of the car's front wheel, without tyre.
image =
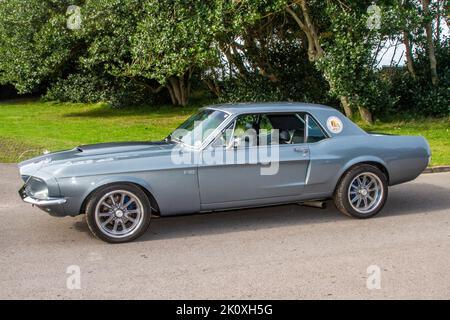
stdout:
<svg viewBox="0 0 450 320">
<path fill-rule="evenodd" d="M 115 190 L 105 194 L 95 208 L 95 222 L 102 233 L 123 238 L 138 230 L 144 217 L 141 201 L 131 192 Z"/>
</svg>

